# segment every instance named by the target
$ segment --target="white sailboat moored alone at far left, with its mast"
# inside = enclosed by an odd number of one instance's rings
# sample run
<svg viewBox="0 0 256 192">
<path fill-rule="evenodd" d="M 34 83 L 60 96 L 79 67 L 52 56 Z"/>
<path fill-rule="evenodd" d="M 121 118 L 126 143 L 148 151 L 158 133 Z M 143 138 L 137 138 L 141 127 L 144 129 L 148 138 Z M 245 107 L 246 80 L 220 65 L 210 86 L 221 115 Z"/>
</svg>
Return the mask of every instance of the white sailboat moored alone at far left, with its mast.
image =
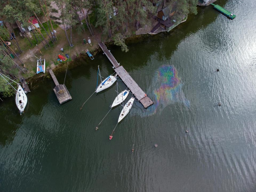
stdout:
<svg viewBox="0 0 256 192">
<path fill-rule="evenodd" d="M 5 79 L 3 76 L 5 76 L 6 78 L 10 79 L 9 77 L 7 77 L 6 75 L 0 73 L 1 77 L 3 79 Z M 10 79 L 11 81 L 13 81 L 12 79 Z M 18 90 L 16 90 L 12 85 L 11 83 L 9 83 L 6 79 L 5 81 L 15 90 L 17 91 L 16 93 L 16 97 L 15 97 L 15 102 L 16 102 L 16 105 L 19 109 L 19 112 L 22 113 L 27 105 L 27 95 L 26 93 L 24 92 L 24 90 L 22 89 L 21 85 L 15 81 L 13 81 L 14 83 L 17 83 L 18 84 Z M 6 84 L 6 85 L 8 85 Z"/>
</svg>

